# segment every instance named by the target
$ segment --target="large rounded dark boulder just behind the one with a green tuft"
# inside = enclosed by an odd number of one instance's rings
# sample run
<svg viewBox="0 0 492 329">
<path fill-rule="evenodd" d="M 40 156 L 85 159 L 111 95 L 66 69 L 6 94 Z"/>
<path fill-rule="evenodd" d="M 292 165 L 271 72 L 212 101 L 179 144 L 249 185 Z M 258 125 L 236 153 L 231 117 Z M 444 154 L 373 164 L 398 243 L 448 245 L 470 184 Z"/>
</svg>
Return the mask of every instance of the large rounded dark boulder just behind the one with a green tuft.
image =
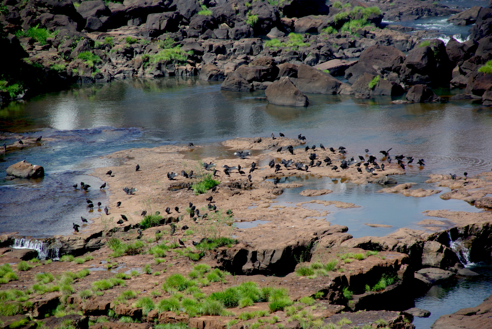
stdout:
<svg viewBox="0 0 492 329">
<path fill-rule="evenodd" d="M 370 46 L 361 53 L 357 64 L 345 70 L 345 79 L 354 83 L 364 73 L 384 75 L 393 72 L 404 58 L 405 54 L 395 47 Z"/>
</svg>

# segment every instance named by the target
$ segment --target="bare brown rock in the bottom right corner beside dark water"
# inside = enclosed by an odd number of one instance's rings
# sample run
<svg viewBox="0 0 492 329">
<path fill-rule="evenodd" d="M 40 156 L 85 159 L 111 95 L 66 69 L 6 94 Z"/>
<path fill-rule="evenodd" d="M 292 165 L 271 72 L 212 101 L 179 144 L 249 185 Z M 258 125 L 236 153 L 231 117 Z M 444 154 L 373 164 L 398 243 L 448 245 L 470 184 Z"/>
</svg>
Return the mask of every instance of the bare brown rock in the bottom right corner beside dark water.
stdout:
<svg viewBox="0 0 492 329">
<path fill-rule="evenodd" d="M 441 315 L 432 329 L 492 328 L 492 296 L 477 307 L 462 308 L 453 314 Z"/>
</svg>

